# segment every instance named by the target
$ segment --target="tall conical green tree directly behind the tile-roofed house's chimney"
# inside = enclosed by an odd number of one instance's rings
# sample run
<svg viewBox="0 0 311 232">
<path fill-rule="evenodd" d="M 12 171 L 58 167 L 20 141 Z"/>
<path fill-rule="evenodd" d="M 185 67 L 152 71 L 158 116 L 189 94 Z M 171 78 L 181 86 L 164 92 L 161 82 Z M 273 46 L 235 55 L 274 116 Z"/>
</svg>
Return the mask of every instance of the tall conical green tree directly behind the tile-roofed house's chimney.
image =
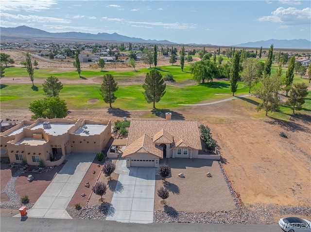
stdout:
<svg viewBox="0 0 311 232">
<path fill-rule="evenodd" d="M 155 102 L 159 102 L 161 97 L 166 93 L 166 84 L 162 75 L 156 69 L 152 69 L 150 73 L 146 74 L 145 83 L 142 85 L 142 88 L 145 90 L 143 94 L 147 103 L 153 102 L 153 108 L 155 108 Z"/>
</svg>

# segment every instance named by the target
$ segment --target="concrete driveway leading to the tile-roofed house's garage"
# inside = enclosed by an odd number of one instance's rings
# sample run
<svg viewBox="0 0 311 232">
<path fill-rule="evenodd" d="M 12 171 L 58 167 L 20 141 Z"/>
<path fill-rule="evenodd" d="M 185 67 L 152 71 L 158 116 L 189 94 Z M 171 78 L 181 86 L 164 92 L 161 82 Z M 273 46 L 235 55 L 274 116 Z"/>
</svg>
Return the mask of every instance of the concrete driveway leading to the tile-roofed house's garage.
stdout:
<svg viewBox="0 0 311 232">
<path fill-rule="evenodd" d="M 126 168 L 126 160 L 117 160 L 118 183 L 106 220 L 152 223 L 155 199 L 155 168 Z"/>
</svg>

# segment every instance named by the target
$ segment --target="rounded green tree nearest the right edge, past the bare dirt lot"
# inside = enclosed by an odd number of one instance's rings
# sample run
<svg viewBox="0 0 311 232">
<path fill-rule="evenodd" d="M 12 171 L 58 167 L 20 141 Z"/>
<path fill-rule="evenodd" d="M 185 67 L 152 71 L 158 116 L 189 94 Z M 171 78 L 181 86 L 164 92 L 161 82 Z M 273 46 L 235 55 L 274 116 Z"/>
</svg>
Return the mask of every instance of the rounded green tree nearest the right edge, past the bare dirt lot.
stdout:
<svg viewBox="0 0 311 232">
<path fill-rule="evenodd" d="M 308 86 L 303 82 L 295 83 L 290 92 L 290 99 L 286 102 L 292 107 L 293 114 L 295 109 L 300 110 L 301 106 L 305 104 L 306 96 L 308 96 Z"/>
</svg>

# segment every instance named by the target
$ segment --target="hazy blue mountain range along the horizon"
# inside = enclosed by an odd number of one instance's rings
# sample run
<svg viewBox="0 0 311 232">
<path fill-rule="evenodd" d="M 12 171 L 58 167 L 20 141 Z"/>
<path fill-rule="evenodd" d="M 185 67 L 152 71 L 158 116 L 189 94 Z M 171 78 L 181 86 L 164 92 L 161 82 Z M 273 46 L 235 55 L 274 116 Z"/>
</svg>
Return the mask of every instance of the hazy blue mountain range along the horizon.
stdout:
<svg viewBox="0 0 311 232">
<path fill-rule="evenodd" d="M 128 37 L 118 33 L 83 33 L 83 32 L 58 32 L 51 33 L 39 29 L 19 26 L 16 28 L 3 28 L 0 27 L 0 36 L 2 39 L 71 39 L 71 40 L 95 40 L 95 41 L 119 41 L 119 42 L 136 42 L 136 43 L 154 43 L 154 44 L 176 44 L 168 40 L 144 40 L 141 38 Z M 265 47 L 268 48 L 274 45 L 275 48 L 293 48 L 293 49 L 311 49 L 311 41 L 306 39 L 294 40 L 261 40 L 257 42 L 248 42 L 244 44 L 237 44 L 232 46 L 237 47 Z M 191 44 L 195 45 L 195 44 Z M 206 44 L 205 46 L 213 46 Z M 216 46 L 216 45 L 215 45 Z"/>
</svg>

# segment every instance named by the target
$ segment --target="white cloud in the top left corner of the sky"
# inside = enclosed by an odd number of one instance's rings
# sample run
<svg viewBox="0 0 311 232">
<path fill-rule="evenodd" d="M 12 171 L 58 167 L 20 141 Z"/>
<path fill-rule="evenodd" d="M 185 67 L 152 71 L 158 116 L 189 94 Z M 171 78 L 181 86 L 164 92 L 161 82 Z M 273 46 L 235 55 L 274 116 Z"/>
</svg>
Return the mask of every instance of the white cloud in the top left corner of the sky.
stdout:
<svg viewBox="0 0 311 232">
<path fill-rule="evenodd" d="M 57 4 L 55 0 L 1 0 L 1 11 L 42 11 L 54 4 Z"/>
</svg>

